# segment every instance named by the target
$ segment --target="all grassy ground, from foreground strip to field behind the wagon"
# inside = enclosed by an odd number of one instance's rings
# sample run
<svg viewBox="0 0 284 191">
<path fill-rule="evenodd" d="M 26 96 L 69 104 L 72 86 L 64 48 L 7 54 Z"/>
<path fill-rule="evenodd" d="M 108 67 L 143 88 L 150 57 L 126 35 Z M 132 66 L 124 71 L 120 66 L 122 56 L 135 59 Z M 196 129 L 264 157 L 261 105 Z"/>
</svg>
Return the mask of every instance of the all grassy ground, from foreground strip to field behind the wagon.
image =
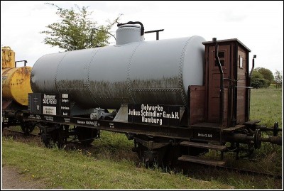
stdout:
<svg viewBox="0 0 284 191">
<path fill-rule="evenodd" d="M 251 120 L 261 124 L 283 124 L 282 89 L 252 89 Z M 102 131 L 93 147 L 68 146 L 65 150 L 44 148 L 37 141 L 2 137 L 2 165 L 18 168 L 29 180 L 45 183 L 46 188 L 62 189 L 280 189 L 282 180 L 232 173 L 200 165 L 187 172 L 160 168 L 146 169 L 131 152 L 133 141 L 124 134 Z M 214 153 L 210 153 L 214 155 Z M 263 143 L 250 158 L 228 165 L 283 174 L 283 150 Z"/>
</svg>

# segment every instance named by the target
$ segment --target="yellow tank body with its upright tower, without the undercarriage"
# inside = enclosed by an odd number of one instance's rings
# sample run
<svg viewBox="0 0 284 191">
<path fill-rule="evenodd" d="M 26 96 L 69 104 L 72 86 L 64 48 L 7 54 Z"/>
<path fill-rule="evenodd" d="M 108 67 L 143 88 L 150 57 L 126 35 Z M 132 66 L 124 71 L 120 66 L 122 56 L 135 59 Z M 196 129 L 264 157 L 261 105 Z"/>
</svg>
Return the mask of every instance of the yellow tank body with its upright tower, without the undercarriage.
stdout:
<svg viewBox="0 0 284 191">
<path fill-rule="evenodd" d="M 31 93 L 31 67 L 16 67 L 15 52 L 9 46 L 2 48 L 2 108 L 9 109 L 15 101 L 21 106 L 28 106 L 28 93 Z M 18 62 L 21 62 L 18 61 Z"/>
</svg>

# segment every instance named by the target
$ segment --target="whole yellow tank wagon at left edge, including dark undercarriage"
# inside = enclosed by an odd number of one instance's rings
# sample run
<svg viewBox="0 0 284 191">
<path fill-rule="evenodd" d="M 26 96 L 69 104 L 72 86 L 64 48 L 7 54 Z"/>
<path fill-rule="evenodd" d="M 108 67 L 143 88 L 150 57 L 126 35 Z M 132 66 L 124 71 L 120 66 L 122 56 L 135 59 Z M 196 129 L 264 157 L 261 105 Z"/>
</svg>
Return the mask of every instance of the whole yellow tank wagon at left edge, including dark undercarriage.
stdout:
<svg viewBox="0 0 284 191">
<path fill-rule="evenodd" d="M 23 111 L 28 111 L 28 93 L 31 93 L 31 67 L 27 61 L 15 62 L 15 52 L 9 46 L 2 51 L 2 128 L 20 125 L 24 132 L 33 131 L 30 124 L 24 123 Z M 24 62 L 17 67 L 17 62 Z"/>
</svg>

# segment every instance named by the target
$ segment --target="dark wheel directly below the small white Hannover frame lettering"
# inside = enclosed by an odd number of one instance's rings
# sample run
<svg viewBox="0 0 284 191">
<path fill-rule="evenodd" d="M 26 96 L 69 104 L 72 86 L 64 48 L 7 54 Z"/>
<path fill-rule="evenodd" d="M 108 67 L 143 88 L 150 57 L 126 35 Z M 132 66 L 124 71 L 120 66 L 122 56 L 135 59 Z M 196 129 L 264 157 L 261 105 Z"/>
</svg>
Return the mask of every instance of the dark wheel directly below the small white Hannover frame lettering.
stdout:
<svg viewBox="0 0 284 191">
<path fill-rule="evenodd" d="M 94 141 L 94 138 L 97 138 L 99 136 L 98 129 L 91 129 L 91 128 L 86 128 L 83 126 L 77 126 L 75 128 L 75 132 L 76 132 L 78 140 L 84 146 L 91 144 Z"/>
</svg>

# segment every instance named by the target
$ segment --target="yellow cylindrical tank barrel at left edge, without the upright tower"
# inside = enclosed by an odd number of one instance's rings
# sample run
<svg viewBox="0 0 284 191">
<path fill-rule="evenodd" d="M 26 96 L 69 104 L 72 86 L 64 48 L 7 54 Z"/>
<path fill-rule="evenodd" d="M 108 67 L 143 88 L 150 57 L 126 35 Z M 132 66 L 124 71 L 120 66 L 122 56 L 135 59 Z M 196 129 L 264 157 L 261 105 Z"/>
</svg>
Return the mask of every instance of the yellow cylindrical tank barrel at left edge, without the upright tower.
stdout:
<svg viewBox="0 0 284 191">
<path fill-rule="evenodd" d="M 28 105 L 31 93 L 31 67 L 13 67 L 2 70 L 2 99 L 11 99 L 23 106 Z"/>
</svg>

